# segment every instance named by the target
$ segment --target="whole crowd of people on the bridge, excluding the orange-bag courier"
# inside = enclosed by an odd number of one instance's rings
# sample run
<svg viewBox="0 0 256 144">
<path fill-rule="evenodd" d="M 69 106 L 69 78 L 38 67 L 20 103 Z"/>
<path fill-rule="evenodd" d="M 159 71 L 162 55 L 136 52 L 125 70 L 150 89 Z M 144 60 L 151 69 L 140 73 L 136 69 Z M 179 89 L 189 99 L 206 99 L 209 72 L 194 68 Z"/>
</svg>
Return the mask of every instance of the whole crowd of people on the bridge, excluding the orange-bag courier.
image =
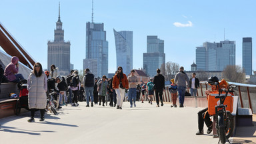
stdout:
<svg viewBox="0 0 256 144">
<path fill-rule="evenodd" d="M 5 67 L 5 71 L 0 67 L 0 82 L 18 82 L 24 79 L 19 72 L 19 58 L 12 57 L 11 63 Z M 85 69 L 85 75 L 80 81 L 78 71 L 71 70 L 67 76 L 59 75 L 59 69 L 55 65 L 51 65 L 50 71 L 43 71 L 40 63 L 35 63 L 33 71 L 31 71 L 27 79 L 27 89 L 29 91 L 28 102 L 31 109 L 31 119 L 29 122 L 35 121 L 35 110 L 41 112 L 40 121 L 44 121 L 44 113 L 46 107 L 46 98 L 49 93 L 55 91 L 56 108 L 61 109 L 63 105 L 79 106 L 78 101 L 86 101 L 86 107 L 93 105 L 102 105 L 105 107 L 106 101 L 109 106 L 122 109 L 125 95 L 130 107 L 136 107 L 136 101 L 148 101 L 153 104 L 154 94 L 156 106 L 164 105 L 163 91 L 165 90 L 165 77 L 161 74 L 161 70 L 157 69 L 156 75 L 150 78 L 147 83 L 138 81 L 135 70 L 132 69 L 129 77 L 123 73 L 123 68 L 118 67 L 115 75 L 107 79 L 105 75 L 101 79 L 97 79 L 90 69 Z M 35 83 L 34 81 L 37 81 Z M 142 83 L 141 83 L 142 82 Z M 0 83 L 1 84 L 1 83 Z M 180 67 L 179 72 L 171 79 L 169 91 L 171 93 L 171 107 L 177 107 L 177 93 L 179 93 L 179 107 L 184 107 L 185 90 L 190 89 L 191 95 L 197 95 L 199 87 L 199 79 L 193 73 L 191 79 L 184 72 L 184 68 Z M 1 91 L 0 91 L 1 92 Z M 125 94 L 127 93 L 127 94 Z"/>
</svg>

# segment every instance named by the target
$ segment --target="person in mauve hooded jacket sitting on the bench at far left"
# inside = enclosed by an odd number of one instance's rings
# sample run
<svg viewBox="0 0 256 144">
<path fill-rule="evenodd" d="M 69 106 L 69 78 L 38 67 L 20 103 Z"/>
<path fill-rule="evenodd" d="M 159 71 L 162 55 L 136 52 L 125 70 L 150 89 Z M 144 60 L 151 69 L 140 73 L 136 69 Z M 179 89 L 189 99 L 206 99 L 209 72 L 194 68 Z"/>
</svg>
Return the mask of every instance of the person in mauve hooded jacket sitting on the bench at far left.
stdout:
<svg viewBox="0 0 256 144">
<path fill-rule="evenodd" d="M 24 79 L 23 75 L 19 73 L 19 58 L 16 56 L 11 57 L 11 63 L 5 67 L 4 74 L 9 82 L 18 83 Z"/>
</svg>

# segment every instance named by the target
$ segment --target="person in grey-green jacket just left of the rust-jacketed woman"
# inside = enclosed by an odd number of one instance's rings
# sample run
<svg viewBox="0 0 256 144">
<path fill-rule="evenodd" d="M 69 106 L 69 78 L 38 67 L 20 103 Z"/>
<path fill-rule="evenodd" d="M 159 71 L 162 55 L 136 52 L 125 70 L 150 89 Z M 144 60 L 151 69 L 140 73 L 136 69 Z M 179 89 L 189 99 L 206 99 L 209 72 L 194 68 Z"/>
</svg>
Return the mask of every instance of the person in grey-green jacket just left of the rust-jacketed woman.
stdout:
<svg viewBox="0 0 256 144">
<path fill-rule="evenodd" d="M 107 85 L 109 83 L 107 82 L 107 77 L 106 75 L 103 75 L 102 79 L 100 79 L 97 82 L 97 85 L 99 87 L 99 105 L 101 105 L 101 99 L 102 99 L 102 106 L 105 107 L 105 97 L 107 97 Z"/>
</svg>

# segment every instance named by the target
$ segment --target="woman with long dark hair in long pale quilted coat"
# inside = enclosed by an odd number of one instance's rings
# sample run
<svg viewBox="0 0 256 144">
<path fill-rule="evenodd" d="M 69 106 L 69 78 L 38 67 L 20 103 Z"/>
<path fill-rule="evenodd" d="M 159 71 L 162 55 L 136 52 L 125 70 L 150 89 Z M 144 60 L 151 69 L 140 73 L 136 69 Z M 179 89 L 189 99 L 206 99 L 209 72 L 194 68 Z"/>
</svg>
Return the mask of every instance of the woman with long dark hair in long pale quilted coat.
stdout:
<svg viewBox="0 0 256 144">
<path fill-rule="evenodd" d="M 33 71 L 27 79 L 27 90 L 29 90 L 29 109 L 31 110 L 31 119 L 27 121 L 35 121 L 34 116 L 37 109 L 41 113 L 40 121 L 44 121 L 47 104 L 47 77 L 43 72 L 41 63 L 35 63 Z"/>
</svg>

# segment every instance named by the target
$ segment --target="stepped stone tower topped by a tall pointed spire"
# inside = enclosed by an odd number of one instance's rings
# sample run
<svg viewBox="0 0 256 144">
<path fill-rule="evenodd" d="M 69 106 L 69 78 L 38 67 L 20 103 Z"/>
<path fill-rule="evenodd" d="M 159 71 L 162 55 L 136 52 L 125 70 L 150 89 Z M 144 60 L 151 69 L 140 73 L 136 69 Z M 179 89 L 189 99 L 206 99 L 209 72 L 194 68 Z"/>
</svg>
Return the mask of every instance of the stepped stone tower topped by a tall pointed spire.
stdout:
<svg viewBox="0 0 256 144">
<path fill-rule="evenodd" d="M 54 30 L 54 41 L 48 41 L 47 69 L 51 69 L 51 65 L 59 67 L 60 75 L 69 75 L 70 73 L 70 42 L 64 41 L 64 30 L 59 17 Z"/>
</svg>

